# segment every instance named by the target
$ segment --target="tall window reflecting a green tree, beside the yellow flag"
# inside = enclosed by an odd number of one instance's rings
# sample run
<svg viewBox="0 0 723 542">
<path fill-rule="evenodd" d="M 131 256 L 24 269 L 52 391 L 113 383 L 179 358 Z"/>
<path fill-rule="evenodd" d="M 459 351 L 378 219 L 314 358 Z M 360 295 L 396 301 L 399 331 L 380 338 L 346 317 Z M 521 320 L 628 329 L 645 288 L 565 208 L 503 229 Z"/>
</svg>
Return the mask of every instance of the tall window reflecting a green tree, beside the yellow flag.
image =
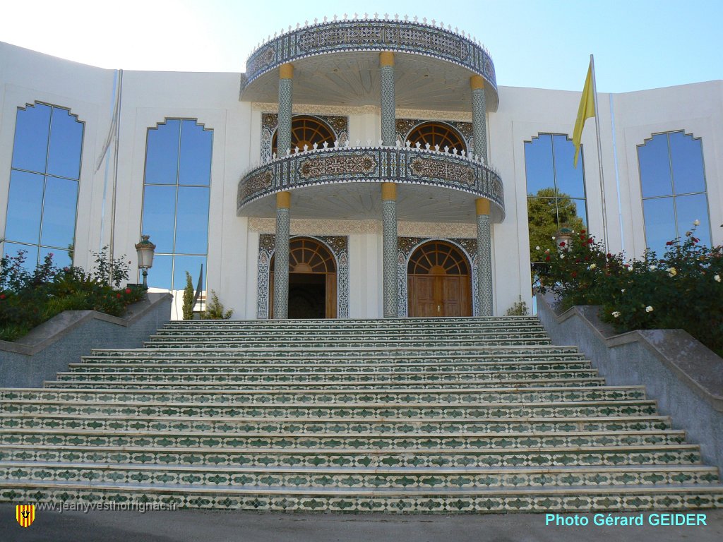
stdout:
<svg viewBox="0 0 723 542">
<path fill-rule="evenodd" d="M 538 134 L 525 142 L 532 262 L 537 252 L 535 247 L 549 246 L 560 228 L 579 231 L 587 226 L 583 148 L 577 168 L 573 167 L 574 155 L 575 146 L 565 134 Z"/>
</svg>

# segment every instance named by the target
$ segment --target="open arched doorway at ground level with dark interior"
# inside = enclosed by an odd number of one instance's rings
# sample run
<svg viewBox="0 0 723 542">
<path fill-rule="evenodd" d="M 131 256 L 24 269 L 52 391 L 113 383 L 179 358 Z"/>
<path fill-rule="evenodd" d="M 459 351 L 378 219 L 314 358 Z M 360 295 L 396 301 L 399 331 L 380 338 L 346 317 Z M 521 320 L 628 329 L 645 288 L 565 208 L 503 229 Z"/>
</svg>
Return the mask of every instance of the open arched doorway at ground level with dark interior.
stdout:
<svg viewBox="0 0 723 542">
<path fill-rule="evenodd" d="M 269 272 L 269 318 L 273 318 L 273 265 Z M 288 317 L 336 318 L 336 262 L 316 239 L 294 237 L 288 251 Z"/>
</svg>

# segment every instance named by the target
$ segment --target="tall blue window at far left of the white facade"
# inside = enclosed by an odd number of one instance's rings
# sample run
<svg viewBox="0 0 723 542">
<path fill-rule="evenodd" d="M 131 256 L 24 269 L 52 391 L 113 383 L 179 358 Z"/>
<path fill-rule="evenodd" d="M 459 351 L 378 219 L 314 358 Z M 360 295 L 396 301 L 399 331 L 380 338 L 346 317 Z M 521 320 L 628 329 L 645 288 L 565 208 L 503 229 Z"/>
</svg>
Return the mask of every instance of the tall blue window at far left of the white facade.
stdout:
<svg viewBox="0 0 723 542">
<path fill-rule="evenodd" d="M 29 269 L 72 263 L 84 127 L 66 108 L 17 108 L 3 252 L 25 250 Z"/>
</svg>

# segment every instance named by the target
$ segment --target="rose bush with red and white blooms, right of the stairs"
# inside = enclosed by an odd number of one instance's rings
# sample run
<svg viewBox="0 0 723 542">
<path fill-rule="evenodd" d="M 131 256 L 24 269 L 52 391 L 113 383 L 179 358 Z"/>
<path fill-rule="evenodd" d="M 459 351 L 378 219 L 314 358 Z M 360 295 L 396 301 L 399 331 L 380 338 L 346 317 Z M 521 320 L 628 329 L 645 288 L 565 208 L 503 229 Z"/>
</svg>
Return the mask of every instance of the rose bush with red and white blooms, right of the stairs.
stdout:
<svg viewBox="0 0 723 542">
<path fill-rule="evenodd" d="M 607 253 L 585 230 L 573 239 L 540 249 L 539 292 L 562 309 L 602 306 L 618 332 L 683 329 L 723 355 L 723 246 L 701 246 L 695 226 L 642 259 Z"/>
</svg>

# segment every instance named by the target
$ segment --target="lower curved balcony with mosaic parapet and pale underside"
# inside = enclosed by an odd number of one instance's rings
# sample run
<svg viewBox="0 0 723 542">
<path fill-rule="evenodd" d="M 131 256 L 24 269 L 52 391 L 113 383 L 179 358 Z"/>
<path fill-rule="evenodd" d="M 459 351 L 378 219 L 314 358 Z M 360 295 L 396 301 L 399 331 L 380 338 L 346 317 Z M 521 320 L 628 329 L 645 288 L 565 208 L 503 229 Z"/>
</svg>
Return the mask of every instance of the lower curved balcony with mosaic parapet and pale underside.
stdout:
<svg viewBox="0 0 723 542">
<path fill-rule="evenodd" d="M 474 200 L 505 217 L 497 171 L 449 150 L 325 146 L 299 150 L 253 168 L 239 182 L 239 216 L 273 217 L 277 192 L 289 191 L 296 218 L 378 219 L 379 183 L 398 184 L 399 220 L 474 223 Z M 294 201 L 295 200 L 295 201 Z"/>
</svg>

